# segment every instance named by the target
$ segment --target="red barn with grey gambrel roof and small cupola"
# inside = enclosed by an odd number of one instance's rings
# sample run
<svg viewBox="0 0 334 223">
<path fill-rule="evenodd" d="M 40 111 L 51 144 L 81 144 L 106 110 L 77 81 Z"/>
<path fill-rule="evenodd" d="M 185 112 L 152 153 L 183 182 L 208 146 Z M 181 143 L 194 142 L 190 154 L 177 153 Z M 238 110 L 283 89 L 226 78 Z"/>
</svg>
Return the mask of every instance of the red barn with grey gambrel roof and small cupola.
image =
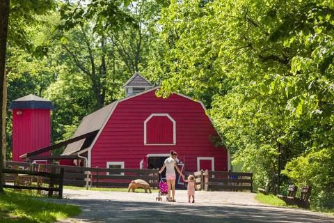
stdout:
<svg viewBox="0 0 334 223">
<path fill-rule="evenodd" d="M 229 169 L 228 151 L 214 146 L 218 133 L 202 102 L 179 93 L 157 98 L 158 88 L 138 73 L 123 89 L 127 98 L 83 118 L 72 138 L 95 134 L 68 144 L 63 155 L 84 157 L 88 167 L 161 168 L 174 150 L 185 171 Z"/>
</svg>

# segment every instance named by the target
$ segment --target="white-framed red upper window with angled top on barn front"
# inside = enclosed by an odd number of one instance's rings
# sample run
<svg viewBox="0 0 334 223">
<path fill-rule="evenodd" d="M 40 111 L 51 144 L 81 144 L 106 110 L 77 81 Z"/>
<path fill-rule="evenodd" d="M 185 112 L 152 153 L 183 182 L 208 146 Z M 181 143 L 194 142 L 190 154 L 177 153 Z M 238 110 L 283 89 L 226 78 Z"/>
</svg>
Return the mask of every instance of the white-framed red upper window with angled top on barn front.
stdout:
<svg viewBox="0 0 334 223">
<path fill-rule="evenodd" d="M 144 122 L 144 144 L 175 145 L 175 120 L 169 114 L 151 114 Z"/>
</svg>

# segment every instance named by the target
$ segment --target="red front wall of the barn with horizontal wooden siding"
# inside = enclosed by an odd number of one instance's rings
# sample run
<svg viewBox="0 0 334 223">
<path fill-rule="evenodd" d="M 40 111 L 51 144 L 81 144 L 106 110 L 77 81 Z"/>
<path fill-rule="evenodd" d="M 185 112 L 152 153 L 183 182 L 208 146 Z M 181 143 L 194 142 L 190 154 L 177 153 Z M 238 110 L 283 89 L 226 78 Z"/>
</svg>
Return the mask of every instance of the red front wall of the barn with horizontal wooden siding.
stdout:
<svg viewBox="0 0 334 223">
<path fill-rule="evenodd" d="M 144 145 L 144 121 L 151 114 L 169 114 L 176 122 L 176 144 Z M 155 91 L 118 103 L 91 151 L 91 167 L 106 162 L 125 162 L 125 168 L 139 168 L 148 154 L 178 153 L 186 171 L 197 170 L 197 157 L 214 157 L 214 169 L 228 170 L 228 153 L 216 148 L 211 136 L 218 136 L 199 102 L 181 95 L 157 98 Z"/>
</svg>

